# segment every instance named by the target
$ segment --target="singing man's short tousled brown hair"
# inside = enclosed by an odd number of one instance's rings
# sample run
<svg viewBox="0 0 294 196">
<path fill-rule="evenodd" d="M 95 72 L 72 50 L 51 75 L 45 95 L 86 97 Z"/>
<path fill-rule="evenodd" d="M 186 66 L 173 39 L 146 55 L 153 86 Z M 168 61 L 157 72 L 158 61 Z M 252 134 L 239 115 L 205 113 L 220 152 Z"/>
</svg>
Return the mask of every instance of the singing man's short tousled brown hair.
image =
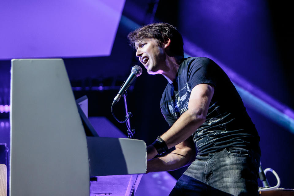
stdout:
<svg viewBox="0 0 294 196">
<path fill-rule="evenodd" d="M 129 33 L 127 36 L 130 41 L 130 46 L 135 48 L 135 42 L 145 39 L 155 39 L 160 46 L 164 43 L 165 38 L 171 40 L 170 52 L 172 55 L 184 56 L 183 38 L 179 31 L 168 23 L 152 23 L 142 26 Z"/>
</svg>

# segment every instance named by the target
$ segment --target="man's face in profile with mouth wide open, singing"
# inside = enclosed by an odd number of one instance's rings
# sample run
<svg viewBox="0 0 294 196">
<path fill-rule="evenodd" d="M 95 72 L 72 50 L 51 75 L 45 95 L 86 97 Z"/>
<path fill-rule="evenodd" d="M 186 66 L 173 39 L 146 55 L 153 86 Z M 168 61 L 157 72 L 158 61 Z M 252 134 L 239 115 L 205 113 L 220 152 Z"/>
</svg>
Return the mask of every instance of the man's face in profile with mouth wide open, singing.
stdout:
<svg viewBox="0 0 294 196">
<path fill-rule="evenodd" d="M 158 46 L 155 39 L 145 39 L 135 43 L 136 56 L 147 69 L 148 74 L 160 74 L 164 68 L 164 45 Z"/>
</svg>

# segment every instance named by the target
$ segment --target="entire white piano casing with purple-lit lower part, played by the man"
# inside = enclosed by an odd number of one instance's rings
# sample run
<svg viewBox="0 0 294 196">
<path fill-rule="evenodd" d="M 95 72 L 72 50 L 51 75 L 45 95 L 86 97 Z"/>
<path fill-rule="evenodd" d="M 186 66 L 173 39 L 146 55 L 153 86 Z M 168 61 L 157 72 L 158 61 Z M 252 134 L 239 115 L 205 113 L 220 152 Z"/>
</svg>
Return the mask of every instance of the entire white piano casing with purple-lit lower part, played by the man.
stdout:
<svg viewBox="0 0 294 196">
<path fill-rule="evenodd" d="M 10 105 L 10 196 L 134 195 L 145 142 L 87 137 L 62 59 L 13 59 Z"/>
</svg>

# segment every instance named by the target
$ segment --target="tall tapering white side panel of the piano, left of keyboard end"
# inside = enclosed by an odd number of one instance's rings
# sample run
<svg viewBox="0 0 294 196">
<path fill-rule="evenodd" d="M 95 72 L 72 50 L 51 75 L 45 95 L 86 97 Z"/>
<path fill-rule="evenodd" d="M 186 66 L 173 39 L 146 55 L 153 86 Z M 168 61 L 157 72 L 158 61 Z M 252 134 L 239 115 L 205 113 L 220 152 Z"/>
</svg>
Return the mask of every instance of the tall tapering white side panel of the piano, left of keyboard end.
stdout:
<svg viewBox="0 0 294 196">
<path fill-rule="evenodd" d="M 89 196 L 85 131 L 62 59 L 13 59 L 10 196 Z"/>
</svg>

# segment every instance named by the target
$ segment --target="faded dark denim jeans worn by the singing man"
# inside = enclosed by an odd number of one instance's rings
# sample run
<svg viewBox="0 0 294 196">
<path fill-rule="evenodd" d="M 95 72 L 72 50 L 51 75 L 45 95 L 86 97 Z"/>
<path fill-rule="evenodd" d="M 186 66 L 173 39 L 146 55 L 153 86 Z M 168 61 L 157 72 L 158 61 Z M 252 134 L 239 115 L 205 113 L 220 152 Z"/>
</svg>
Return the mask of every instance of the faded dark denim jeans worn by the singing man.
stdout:
<svg viewBox="0 0 294 196">
<path fill-rule="evenodd" d="M 257 196 L 259 163 L 258 153 L 243 148 L 197 155 L 169 196 Z"/>
</svg>

